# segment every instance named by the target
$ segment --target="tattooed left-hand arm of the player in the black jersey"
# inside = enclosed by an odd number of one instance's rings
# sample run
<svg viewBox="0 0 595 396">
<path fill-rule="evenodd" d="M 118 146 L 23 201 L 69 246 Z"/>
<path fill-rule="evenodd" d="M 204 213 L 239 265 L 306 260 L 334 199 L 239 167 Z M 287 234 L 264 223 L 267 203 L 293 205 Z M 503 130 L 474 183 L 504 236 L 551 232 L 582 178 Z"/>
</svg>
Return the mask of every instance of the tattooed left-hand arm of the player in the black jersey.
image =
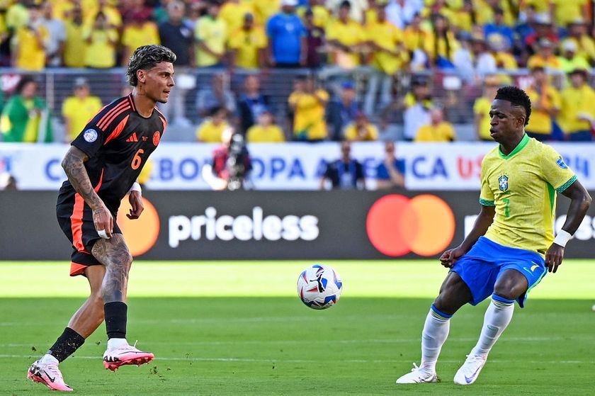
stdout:
<svg viewBox="0 0 595 396">
<path fill-rule="evenodd" d="M 99 232 L 106 232 L 106 236 L 111 238 L 113 231 L 113 217 L 106 208 L 106 204 L 99 198 L 95 192 L 89 174 L 86 173 L 84 162 L 89 159 L 87 155 L 77 147 L 71 146 L 64 159 L 62 159 L 62 168 L 68 176 L 68 181 L 74 187 L 89 208 L 93 210 L 93 222 L 95 229 Z"/>
</svg>

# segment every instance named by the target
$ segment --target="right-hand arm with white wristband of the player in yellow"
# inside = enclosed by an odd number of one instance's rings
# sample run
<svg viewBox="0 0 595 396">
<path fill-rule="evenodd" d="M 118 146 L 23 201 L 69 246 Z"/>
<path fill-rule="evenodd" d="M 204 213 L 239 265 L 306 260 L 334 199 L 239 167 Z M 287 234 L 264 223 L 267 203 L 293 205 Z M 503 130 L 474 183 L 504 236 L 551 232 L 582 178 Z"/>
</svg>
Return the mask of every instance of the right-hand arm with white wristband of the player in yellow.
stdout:
<svg viewBox="0 0 595 396">
<path fill-rule="evenodd" d="M 570 198 L 570 207 L 562 230 L 558 232 L 552 246 L 545 252 L 545 266 L 548 267 L 549 272 L 557 271 L 557 267 L 562 264 L 566 242 L 574 232 L 577 232 L 584 215 L 587 214 L 587 210 L 591 206 L 591 196 L 578 180 L 574 181 L 562 194 Z"/>
</svg>

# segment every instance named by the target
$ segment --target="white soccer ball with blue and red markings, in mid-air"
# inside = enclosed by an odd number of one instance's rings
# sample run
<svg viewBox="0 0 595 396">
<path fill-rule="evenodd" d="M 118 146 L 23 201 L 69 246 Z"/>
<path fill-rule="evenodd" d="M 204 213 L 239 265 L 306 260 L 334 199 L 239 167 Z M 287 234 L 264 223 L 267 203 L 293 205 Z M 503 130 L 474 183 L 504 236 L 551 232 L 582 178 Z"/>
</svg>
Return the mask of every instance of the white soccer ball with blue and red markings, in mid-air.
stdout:
<svg viewBox="0 0 595 396">
<path fill-rule="evenodd" d="M 326 310 L 339 301 L 343 281 L 339 273 L 322 264 L 306 268 L 297 278 L 297 295 L 313 310 Z"/>
</svg>

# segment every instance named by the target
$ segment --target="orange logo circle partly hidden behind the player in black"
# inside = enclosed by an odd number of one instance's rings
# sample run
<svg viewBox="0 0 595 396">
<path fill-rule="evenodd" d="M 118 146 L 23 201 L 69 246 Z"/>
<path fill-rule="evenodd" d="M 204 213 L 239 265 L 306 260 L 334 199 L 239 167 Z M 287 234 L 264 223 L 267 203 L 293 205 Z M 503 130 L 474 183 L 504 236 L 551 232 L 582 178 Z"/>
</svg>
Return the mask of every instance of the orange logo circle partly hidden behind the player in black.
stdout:
<svg viewBox="0 0 595 396">
<path fill-rule="evenodd" d="M 140 217 L 136 220 L 130 220 L 126 217 L 126 214 L 130 213 L 132 207 L 128 202 L 128 196 L 126 196 L 122 200 L 120 210 L 118 210 L 118 220 L 116 220 L 120 230 L 122 230 L 128 249 L 130 249 L 130 254 L 134 257 L 147 253 L 159 237 L 157 209 L 145 198 L 142 198 L 142 205 L 145 206 L 145 210 L 142 211 Z"/>
</svg>

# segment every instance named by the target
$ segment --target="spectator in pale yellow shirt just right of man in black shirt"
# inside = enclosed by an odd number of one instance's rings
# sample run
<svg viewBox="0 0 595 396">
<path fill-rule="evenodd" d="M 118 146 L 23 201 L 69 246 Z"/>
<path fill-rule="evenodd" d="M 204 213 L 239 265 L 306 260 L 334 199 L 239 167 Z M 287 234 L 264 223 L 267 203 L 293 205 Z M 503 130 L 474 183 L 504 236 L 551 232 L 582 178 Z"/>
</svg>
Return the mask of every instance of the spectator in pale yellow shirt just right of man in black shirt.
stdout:
<svg viewBox="0 0 595 396">
<path fill-rule="evenodd" d="M 196 66 L 219 66 L 225 60 L 225 43 L 229 30 L 219 17 L 219 3 L 210 0 L 207 15 L 201 16 L 194 28 L 196 39 Z"/>
</svg>

